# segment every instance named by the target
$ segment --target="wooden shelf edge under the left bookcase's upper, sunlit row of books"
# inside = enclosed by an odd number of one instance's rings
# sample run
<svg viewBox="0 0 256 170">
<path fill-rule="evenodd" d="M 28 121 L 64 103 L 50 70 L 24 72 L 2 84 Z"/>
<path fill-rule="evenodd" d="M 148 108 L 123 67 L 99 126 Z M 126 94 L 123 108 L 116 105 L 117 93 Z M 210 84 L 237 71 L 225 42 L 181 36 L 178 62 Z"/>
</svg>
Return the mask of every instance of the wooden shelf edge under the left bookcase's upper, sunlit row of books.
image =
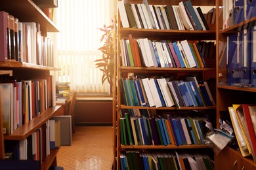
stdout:
<svg viewBox="0 0 256 170">
<path fill-rule="evenodd" d="M 19 61 L 0 61 L 0 67 L 5 68 L 23 68 L 23 69 L 37 69 L 48 71 L 60 71 L 60 68 L 48 67 L 43 65 L 37 65 L 33 63 L 19 62 Z"/>
</svg>

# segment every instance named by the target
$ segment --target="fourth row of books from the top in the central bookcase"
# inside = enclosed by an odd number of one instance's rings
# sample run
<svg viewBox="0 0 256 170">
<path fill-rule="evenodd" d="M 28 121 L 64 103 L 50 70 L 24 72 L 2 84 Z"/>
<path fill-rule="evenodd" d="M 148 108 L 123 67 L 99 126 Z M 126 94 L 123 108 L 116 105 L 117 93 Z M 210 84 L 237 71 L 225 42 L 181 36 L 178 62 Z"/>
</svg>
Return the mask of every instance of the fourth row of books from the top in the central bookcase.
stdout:
<svg viewBox="0 0 256 170">
<path fill-rule="evenodd" d="M 121 144 L 180 146 L 205 144 L 206 133 L 213 129 L 207 116 L 182 116 L 184 114 L 154 114 L 130 116 L 124 112 L 120 118 Z M 207 126 L 205 126 L 207 125 Z"/>
</svg>

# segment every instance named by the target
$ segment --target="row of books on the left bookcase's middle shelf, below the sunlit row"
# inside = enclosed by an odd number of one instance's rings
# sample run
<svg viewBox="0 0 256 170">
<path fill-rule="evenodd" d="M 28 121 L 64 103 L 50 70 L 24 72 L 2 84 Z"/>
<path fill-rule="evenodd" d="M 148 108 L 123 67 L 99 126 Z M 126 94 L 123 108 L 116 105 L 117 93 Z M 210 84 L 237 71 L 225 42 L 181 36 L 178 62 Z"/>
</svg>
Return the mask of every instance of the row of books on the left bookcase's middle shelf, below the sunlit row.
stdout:
<svg viewBox="0 0 256 170">
<path fill-rule="evenodd" d="M 53 76 L 33 80 L 16 80 L 12 76 L 0 76 L 1 112 L 5 135 L 27 124 L 47 108 L 53 107 Z"/>
</svg>

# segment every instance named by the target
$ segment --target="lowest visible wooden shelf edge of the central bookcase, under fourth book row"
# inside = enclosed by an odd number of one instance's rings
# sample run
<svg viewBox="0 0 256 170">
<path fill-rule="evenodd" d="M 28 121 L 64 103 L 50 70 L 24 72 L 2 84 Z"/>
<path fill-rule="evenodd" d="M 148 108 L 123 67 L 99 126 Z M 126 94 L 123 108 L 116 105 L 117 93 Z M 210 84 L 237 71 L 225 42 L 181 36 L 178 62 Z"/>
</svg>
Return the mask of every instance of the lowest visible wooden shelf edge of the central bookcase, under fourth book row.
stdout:
<svg viewBox="0 0 256 170">
<path fill-rule="evenodd" d="M 131 146 L 125 146 L 125 145 L 121 145 L 121 148 L 123 149 L 127 149 L 127 148 L 134 148 L 134 149 L 169 149 L 169 148 L 175 148 L 175 149 L 184 149 L 184 148 L 210 148 L 210 146 L 208 145 L 204 145 L 204 144 L 189 144 L 189 145 L 180 145 L 180 146 L 176 146 L 176 145 L 167 145 L 167 146 L 163 146 L 163 145 L 131 145 Z"/>
</svg>

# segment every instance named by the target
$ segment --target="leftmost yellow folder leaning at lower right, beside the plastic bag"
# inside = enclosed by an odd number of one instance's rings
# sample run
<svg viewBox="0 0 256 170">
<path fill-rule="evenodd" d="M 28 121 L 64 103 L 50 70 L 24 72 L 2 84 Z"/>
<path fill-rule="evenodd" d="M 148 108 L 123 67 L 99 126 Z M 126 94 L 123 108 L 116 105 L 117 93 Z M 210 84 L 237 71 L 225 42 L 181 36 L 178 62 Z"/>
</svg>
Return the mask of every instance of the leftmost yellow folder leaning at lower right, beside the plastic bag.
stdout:
<svg viewBox="0 0 256 170">
<path fill-rule="evenodd" d="M 241 154 L 243 157 L 251 156 L 251 148 L 249 147 L 247 138 L 245 137 L 244 130 L 242 129 L 242 125 L 238 121 L 238 117 L 236 115 L 236 111 L 234 107 L 228 107 L 230 119 L 233 125 L 234 133 L 236 135 L 236 140 L 238 141 L 238 146 L 240 148 Z"/>
</svg>

